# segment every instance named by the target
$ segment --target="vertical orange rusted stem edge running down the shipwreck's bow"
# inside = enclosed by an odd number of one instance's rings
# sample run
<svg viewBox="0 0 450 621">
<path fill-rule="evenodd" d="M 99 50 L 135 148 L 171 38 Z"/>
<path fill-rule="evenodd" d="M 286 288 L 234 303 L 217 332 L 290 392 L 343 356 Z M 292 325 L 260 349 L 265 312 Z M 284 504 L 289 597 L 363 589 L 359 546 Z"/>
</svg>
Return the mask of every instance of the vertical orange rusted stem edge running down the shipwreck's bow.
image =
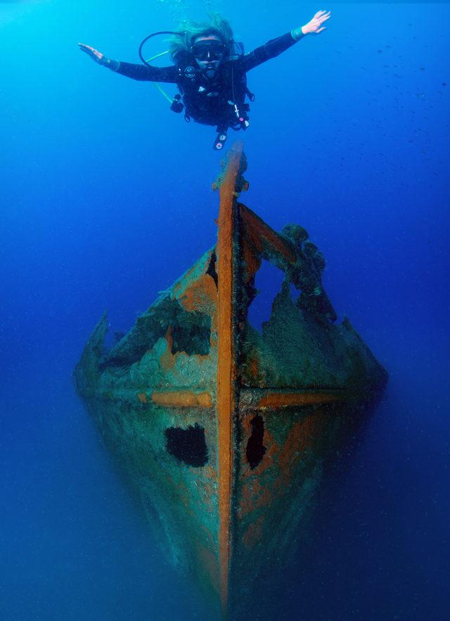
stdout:
<svg viewBox="0 0 450 621">
<path fill-rule="evenodd" d="M 223 617 L 228 614 L 229 565 L 231 554 L 231 489 L 233 476 L 232 424 L 236 401 L 236 362 L 233 336 L 234 265 L 233 238 L 236 210 L 236 179 L 243 144 L 229 153 L 224 182 L 220 188 L 217 238 L 217 420 L 219 428 L 219 575 Z"/>
</svg>

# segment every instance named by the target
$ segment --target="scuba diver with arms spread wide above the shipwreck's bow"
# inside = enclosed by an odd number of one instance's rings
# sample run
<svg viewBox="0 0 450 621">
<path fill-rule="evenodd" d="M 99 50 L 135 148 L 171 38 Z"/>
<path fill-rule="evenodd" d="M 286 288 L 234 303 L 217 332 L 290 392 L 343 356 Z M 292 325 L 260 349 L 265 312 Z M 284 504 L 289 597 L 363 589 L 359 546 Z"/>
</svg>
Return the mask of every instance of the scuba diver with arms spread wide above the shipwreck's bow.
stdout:
<svg viewBox="0 0 450 621">
<path fill-rule="evenodd" d="M 99 65 L 126 77 L 176 84 L 179 94 L 174 96 L 171 110 L 177 113 L 184 110 L 186 121 L 193 119 L 198 123 L 216 125 L 217 138 L 213 148 L 219 151 L 224 146 L 229 128 L 238 130 L 249 126 L 250 105 L 245 102 L 245 97 L 254 101 L 255 96 L 247 87 L 247 72 L 278 56 L 307 34 L 326 30 L 323 23 L 330 15 L 330 11 L 318 11 L 304 26 L 271 39 L 247 54 L 243 51 L 243 44 L 234 41 L 228 21 L 218 14 L 211 15 L 209 23 L 186 22 L 179 32 L 150 34 L 139 48 L 142 65 L 112 60 L 82 43 L 79 47 Z M 150 65 L 142 56 L 143 44 L 157 34 L 173 35 L 169 54 L 174 64 L 169 67 Z"/>
</svg>

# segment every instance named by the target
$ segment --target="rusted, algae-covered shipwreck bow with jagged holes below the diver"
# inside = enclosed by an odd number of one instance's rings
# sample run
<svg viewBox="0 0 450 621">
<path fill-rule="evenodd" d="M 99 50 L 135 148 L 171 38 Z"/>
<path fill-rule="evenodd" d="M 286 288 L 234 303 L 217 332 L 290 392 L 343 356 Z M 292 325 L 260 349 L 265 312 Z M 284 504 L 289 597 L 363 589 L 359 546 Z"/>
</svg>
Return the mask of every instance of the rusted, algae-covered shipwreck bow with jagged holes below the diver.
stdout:
<svg viewBox="0 0 450 621">
<path fill-rule="evenodd" d="M 276 579 L 323 466 L 387 382 L 349 321 L 335 323 L 307 231 L 276 233 L 238 202 L 245 168 L 237 143 L 213 184 L 217 245 L 109 351 L 103 316 L 75 369 L 160 542 L 231 617 L 243 585 L 267 567 Z M 248 309 L 263 261 L 285 278 L 259 332 Z"/>
</svg>

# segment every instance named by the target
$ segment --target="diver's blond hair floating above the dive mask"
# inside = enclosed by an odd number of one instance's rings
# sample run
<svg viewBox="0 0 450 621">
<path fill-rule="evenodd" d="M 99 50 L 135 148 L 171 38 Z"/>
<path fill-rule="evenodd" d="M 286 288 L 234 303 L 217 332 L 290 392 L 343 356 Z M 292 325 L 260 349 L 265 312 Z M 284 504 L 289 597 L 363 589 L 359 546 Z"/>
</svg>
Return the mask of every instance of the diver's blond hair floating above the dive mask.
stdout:
<svg viewBox="0 0 450 621">
<path fill-rule="evenodd" d="M 176 61 L 180 54 L 190 53 L 196 37 L 207 37 L 215 34 L 222 41 L 226 49 L 231 49 L 233 30 L 227 20 L 219 13 L 208 13 L 209 22 L 192 22 L 185 20 L 179 25 L 179 34 L 170 39 L 170 57 Z"/>
</svg>

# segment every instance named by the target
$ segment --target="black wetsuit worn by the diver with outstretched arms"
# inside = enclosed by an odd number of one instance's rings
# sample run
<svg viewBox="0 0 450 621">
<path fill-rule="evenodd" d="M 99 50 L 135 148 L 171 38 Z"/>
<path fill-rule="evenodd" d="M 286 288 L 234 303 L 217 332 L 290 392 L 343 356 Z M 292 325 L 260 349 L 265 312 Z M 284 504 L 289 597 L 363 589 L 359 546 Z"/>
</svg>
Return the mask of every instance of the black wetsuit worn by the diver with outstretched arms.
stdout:
<svg viewBox="0 0 450 621">
<path fill-rule="evenodd" d="M 247 72 L 278 56 L 296 42 L 290 32 L 271 39 L 248 54 L 222 61 L 212 79 L 205 77 L 195 58 L 188 53 L 179 56 L 176 65 L 169 67 L 121 62 L 115 71 L 133 79 L 176 84 L 185 106 L 186 120 L 193 118 L 198 123 L 217 125 L 219 132 L 226 132 L 228 127 L 245 129 L 249 109 L 245 95 L 250 94 Z"/>
</svg>

